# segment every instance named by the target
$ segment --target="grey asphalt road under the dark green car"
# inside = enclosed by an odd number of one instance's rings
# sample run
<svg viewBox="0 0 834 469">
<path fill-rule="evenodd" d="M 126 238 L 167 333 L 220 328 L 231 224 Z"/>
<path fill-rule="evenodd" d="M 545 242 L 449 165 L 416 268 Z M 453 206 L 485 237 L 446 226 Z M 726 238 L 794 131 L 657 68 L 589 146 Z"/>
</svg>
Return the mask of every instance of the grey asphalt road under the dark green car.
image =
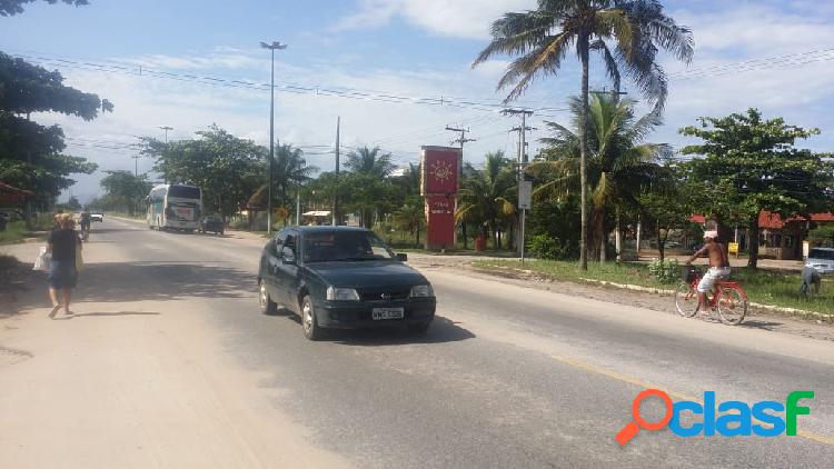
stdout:
<svg viewBox="0 0 834 469">
<path fill-rule="evenodd" d="M 302 427 L 312 446 L 361 468 L 818 468 L 834 461 L 830 341 L 527 289 L 415 259 L 438 298 L 427 337 L 390 329 L 310 342 L 295 316 L 259 313 L 261 245 L 121 220 L 96 223 L 88 250 L 102 261 L 85 271 L 77 310 L 85 301 L 155 301 L 160 315 L 151 320 L 165 328 L 176 305 L 198 303 L 220 332 L 218 350 L 261 377 L 255 391 Z M 812 410 L 800 416 L 796 437 L 679 438 L 664 429 L 619 447 L 614 435 L 646 387 L 674 400 L 707 390 L 719 401 L 751 403 L 784 402 L 794 390 L 816 396 L 803 402 Z M 656 401 L 643 406 L 649 420 L 659 409 Z"/>
</svg>

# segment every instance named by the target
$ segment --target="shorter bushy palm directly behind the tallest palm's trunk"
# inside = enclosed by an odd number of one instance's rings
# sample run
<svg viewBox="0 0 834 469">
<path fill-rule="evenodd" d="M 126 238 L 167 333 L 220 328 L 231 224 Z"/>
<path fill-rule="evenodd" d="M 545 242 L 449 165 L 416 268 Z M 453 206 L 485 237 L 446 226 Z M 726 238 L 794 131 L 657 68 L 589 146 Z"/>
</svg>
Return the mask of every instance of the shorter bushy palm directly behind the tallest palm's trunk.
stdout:
<svg viewBox="0 0 834 469">
<path fill-rule="evenodd" d="M 530 171 L 539 178 L 549 179 L 536 189 L 537 196 L 549 191 L 566 197 L 580 184 L 576 176 L 582 158 L 582 100 L 572 98 L 569 107 L 574 129 L 547 122 L 554 136 L 540 139 L 546 146 L 542 150 L 543 160 L 530 166 Z M 644 142 L 662 122 L 655 112 L 636 119 L 632 100 L 619 100 L 614 93 L 594 93 L 588 111 L 587 188 L 584 189 L 590 192 L 593 207 L 589 257 L 604 260 L 607 211 L 636 202 L 642 186 L 657 168 L 657 160 L 669 157 L 672 150 L 664 143 Z"/>
</svg>

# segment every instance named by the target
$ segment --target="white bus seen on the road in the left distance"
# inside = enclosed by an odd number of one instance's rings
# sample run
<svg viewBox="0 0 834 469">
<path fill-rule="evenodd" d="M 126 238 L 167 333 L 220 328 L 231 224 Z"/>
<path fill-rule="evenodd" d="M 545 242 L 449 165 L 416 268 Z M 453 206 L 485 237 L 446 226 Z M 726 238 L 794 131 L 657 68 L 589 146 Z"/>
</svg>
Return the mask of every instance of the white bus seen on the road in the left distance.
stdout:
<svg viewBox="0 0 834 469">
<path fill-rule="evenodd" d="M 185 184 L 155 186 L 148 194 L 148 227 L 193 231 L 202 213 L 202 191 Z"/>
</svg>

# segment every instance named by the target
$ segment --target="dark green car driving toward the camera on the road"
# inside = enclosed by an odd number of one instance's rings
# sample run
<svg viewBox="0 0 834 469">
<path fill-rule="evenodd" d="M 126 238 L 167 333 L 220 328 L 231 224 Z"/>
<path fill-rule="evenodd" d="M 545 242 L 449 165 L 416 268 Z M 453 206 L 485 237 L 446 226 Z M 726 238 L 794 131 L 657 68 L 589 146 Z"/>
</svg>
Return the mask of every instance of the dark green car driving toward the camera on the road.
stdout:
<svg viewBox="0 0 834 469">
<path fill-rule="evenodd" d="M 391 325 L 426 333 L 435 292 L 405 260 L 364 228 L 285 228 L 260 257 L 260 309 L 275 313 L 282 306 L 298 313 L 310 340 L 322 329 Z"/>
</svg>

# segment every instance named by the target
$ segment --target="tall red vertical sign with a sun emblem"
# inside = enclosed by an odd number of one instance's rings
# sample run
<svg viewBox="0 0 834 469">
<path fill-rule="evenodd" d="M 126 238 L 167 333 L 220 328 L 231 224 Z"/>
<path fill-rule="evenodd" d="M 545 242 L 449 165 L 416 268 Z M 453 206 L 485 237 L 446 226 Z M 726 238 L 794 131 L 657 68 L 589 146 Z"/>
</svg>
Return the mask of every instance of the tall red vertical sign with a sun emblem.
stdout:
<svg viewBox="0 0 834 469">
<path fill-rule="evenodd" d="M 455 210 L 461 164 L 459 148 L 423 147 L 420 190 L 426 200 L 426 249 L 455 247 Z"/>
</svg>

